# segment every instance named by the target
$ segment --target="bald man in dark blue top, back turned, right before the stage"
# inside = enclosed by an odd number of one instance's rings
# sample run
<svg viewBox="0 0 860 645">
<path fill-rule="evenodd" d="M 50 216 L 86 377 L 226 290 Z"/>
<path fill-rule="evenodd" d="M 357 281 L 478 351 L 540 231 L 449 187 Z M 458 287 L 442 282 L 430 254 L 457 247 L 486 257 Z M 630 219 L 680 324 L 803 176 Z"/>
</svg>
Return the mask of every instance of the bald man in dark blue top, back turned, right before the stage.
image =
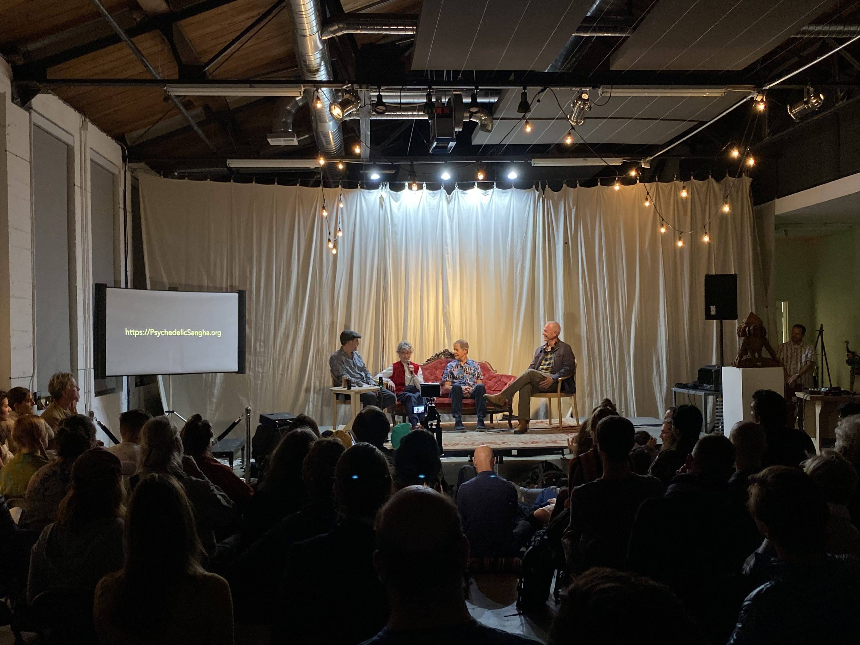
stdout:
<svg viewBox="0 0 860 645">
<path fill-rule="evenodd" d="M 477 475 L 461 484 L 457 491 L 457 507 L 472 555 L 516 555 L 522 546 L 514 536 L 517 489 L 495 474 L 495 456 L 488 445 L 479 445 L 472 461 Z"/>
</svg>

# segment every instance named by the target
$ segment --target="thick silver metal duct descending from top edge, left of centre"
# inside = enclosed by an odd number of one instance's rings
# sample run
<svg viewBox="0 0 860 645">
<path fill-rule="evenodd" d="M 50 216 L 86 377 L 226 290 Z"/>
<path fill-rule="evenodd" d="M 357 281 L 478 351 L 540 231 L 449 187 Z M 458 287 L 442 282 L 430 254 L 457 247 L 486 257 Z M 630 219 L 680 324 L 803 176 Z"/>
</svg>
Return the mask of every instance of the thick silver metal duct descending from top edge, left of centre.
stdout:
<svg viewBox="0 0 860 645">
<path fill-rule="evenodd" d="M 287 10 L 292 22 L 292 46 L 302 78 L 308 81 L 334 80 L 329 53 L 322 41 L 322 21 L 316 0 L 288 0 Z M 310 122 L 313 124 L 316 147 L 323 157 L 340 157 L 343 153 L 341 123 L 331 115 L 335 90 L 317 90 L 321 105 L 310 104 Z M 313 89 L 305 90 L 310 100 Z"/>
</svg>

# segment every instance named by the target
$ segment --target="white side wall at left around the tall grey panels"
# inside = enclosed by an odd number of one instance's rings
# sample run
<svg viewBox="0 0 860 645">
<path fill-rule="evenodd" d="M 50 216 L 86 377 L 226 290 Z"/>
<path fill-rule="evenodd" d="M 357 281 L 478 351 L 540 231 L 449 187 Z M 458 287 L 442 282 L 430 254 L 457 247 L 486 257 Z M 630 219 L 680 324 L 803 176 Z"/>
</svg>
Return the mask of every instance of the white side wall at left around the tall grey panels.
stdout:
<svg viewBox="0 0 860 645">
<path fill-rule="evenodd" d="M 34 124 L 38 124 L 66 140 L 73 150 L 70 306 L 71 319 L 77 322 L 71 329 L 69 367 L 72 373 L 77 373 L 81 387 L 78 411 L 94 410 L 102 423 L 118 434 L 118 416 L 125 406 L 125 391 L 94 396 L 89 164 L 97 155 L 99 163 L 112 166 L 118 175 L 114 230 L 117 231 L 117 248 L 121 249 L 123 231 L 130 230 L 123 222 L 127 175 L 122 151 L 119 144 L 93 126 L 83 114 L 54 95 L 36 96 L 28 110 L 15 106 L 11 101 L 11 77 L 9 65 L 0 58 L 0 132 L 3 133 L 0 139 L 0 388 L 22 385 L 32 389 L 36 377 L 31 131 Z M 125 285 L 125 273 L 122 273 Z M 123 387 L 126 387 L 125 379 Z"/>
</svg>

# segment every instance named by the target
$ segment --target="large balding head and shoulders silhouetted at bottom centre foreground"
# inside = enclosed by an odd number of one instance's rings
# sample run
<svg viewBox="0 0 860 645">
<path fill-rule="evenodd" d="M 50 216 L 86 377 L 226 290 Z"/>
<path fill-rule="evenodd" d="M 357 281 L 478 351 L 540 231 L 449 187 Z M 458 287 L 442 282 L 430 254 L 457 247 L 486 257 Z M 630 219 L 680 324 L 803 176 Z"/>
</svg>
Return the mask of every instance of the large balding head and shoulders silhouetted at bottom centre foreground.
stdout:
<svg viewBox="0 0 860 645">
<path fill-rule="evenodd" d="M 464 578 L 469 541 L 457 508 L 432 488 L 408 486 L 380 511 L 373 566 L 388 594 L 388 624 L 363 645 L 525 645 L 524 636 L 478 623 Z"/>
</svg>

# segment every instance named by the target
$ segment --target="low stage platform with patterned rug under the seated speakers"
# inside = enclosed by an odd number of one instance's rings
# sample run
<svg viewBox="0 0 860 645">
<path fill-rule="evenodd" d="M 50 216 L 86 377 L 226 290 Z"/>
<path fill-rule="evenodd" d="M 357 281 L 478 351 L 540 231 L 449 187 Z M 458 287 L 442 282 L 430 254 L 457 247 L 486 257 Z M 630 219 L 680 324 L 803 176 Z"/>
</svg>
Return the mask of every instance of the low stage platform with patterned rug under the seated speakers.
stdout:
<svg viewBox="0 0 860 645">
<path fill-rule="evenodd" d="M 507 427 L 507 421 L 497 421 L 487 432 L 476 431 L 476 422 L 464 423 L 466 432 L 453 432 L 453 423 L 442 424 L 442 457 L 470 458 L 479 445 L 491 447 L 497 458 L 521 457 L 533 458 L 555 455 L 569 455 L 568 439 L 579 431 L 579 425 L 574 419 L 565 419 L 562 429 L 549 427 L 549 421 L 531 421 L 529 431 L 525 434 L 514 434 Z M 636 430 L 646 430 L 654 437 L 660 437 L 660 419 L 654 417 L 632 417 Z M 516 424 L 514 424 L 516 425 Z M 390 444 L 388 444 L 390 447 Z"/>
</svg>

